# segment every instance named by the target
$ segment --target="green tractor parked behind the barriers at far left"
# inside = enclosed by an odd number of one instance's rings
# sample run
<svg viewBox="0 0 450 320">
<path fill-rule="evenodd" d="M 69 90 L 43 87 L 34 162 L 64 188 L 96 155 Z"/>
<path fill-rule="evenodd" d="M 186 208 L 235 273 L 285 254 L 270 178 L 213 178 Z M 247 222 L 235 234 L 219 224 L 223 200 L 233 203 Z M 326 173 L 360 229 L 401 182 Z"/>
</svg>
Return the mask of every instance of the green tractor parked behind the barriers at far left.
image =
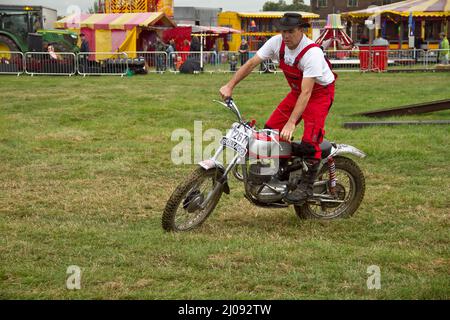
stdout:
<svg viewBox="0 0 450 320">
<path fill-rule="evenodd" d="M 52 30 L 56 10 L 45 7 L 0 5 L 0 58 L 8 52 L 44 52 L 52 44 L 56 52 L 78 52 L 78 35 Z M 48 29 L 47 29 L 48 28 Z"/>
</svg>

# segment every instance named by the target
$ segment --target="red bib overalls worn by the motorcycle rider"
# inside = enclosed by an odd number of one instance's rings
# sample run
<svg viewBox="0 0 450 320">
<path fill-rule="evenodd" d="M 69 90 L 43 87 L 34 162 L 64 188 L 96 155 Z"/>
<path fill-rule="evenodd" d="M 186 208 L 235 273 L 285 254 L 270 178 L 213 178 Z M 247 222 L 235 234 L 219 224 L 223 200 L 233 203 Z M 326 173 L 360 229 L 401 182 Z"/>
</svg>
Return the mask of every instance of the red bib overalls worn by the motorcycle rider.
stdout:
<svg viewBox="0 0 450 320">
<path fill-rule="evenodd" d="M 300 96 L 302 88 L 303 72 L 299 70 L 298 64 L 305 53 L 313 47 L 319 46 L 316 44 L 308 45 L 295 58 L 293 66 L 289 66 L 284 62 L 284 41 L 281 43 L 280 68 L 283 70 L 284 75 L 291 87 L 291 92 L 272 113 L 269 120 L 266 122 L 267 128 L 279 130 L 281 132 L 287 121 L 289 120 L 289 117 L 291 116 L 291 113 L 294 110 L 297 100 Z M 328 60 L 327 63 L 331 69 L 331 65 Z M 302 119 L 304 121 L 302 147 L 303 155 L 305 156 L 305 158 L 321 158 L 322 152 L 319 145 L 322 143 L 323 136 L 325 135 L 325 119 L 328 115 L 328 111 L 331 108 L 333 100 L 334 82 L 327 86 L 322 86 L 318 83 L 314 84 L 314 88 L 306 109 L 297 122 L 298 124 Z"/>
</svg>

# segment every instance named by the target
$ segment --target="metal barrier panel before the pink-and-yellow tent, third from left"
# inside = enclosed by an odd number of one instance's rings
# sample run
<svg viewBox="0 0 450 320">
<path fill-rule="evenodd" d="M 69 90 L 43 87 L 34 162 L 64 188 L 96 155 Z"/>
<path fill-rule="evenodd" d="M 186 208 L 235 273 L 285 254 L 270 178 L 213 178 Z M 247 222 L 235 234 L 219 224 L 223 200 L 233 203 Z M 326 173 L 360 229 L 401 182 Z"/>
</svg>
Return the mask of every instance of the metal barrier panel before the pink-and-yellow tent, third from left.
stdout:
<svg viewBox="0 0 450 320">
<path fill-rule="evenodd" d="M 81 52 L 77 55 L 82 76 L 125 76 L 130 59 L 125 52 Z"/>
</svg>

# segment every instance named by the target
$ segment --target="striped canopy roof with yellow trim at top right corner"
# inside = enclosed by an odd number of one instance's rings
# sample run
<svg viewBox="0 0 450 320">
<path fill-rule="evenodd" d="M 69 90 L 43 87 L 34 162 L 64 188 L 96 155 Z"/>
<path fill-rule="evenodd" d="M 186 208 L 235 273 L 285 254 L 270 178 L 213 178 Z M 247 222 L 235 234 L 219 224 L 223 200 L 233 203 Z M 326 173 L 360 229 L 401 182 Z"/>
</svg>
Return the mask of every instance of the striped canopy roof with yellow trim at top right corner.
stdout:
<svg viewBox="0 0 450 320">
<path fill-rule="evenodd" d="M 371 15 L 392 13 L 408 17 L 448 17 L 450 16 L 450 0 L 407 0 L 364 10 L 342 13 L 352 18 L 365 18 Z"/>
</svg>

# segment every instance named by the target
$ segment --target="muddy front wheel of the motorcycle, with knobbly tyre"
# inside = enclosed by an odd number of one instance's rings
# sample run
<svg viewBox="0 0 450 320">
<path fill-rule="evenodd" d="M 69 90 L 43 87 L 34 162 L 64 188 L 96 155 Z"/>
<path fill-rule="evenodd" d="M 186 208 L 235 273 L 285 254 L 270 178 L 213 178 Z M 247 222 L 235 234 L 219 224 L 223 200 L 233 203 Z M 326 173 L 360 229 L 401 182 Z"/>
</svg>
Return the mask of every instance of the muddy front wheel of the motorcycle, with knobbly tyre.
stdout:
<svg viewBox="0 0 450 320">
<path fill-rule="evenodd" d="M 173 192 L 162 216 L 166 231 L 189 231 L 200 226 L 211 214 L 222 196 L 222 190 L 204 203 L 214 190 L 221 172 L 197 168 Z"/>
</svg>

